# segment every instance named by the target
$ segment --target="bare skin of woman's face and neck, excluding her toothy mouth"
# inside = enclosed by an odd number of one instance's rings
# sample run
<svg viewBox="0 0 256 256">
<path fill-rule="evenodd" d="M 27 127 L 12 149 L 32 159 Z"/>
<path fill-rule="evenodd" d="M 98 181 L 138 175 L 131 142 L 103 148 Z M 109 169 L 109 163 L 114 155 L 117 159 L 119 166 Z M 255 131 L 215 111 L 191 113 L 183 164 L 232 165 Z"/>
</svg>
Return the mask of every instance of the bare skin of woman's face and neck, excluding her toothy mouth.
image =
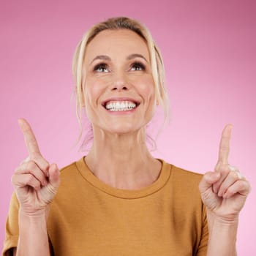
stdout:
<svg viewBox="0 0 256 256">
<path fill-rule="evenodd" d="M 102 31 L 92 39 L 85 56 L 85 107 L 94 131 L 86 163 L 112 187 L 145 187 L 157 179 L 161 169 L 145 143 L 145 127 L 157 105 L 147 45 L 133 31 Z M 138 62 L 144 67 L 138 67 Z M 98 64 L 105 68 L 95 70 Z M 102 107 L 111 97 L 129 97 L 140 105 L 133 112 L 117 115 Z"/>
</svg>

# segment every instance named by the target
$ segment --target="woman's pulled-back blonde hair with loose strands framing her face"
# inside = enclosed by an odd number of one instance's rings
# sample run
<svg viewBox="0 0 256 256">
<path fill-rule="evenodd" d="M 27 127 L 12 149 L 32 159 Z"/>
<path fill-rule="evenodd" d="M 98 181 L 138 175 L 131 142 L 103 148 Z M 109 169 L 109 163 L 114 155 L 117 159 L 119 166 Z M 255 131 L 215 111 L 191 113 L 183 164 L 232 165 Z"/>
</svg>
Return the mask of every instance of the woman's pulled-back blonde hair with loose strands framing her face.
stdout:
<svg viewBox="0 0 256 256">
<path fill-rule="evenodd" d="M 99 32 L 104 30 L 117 30 L 117 29 L 129 29 L 134 31 L 140 37 L 142 37 L 147 46 L 151 61 L 151 70 L 152 76 L 154 79 L 155 91 L 156 91 L 156 99 L 159 105 L 162 105 L 164 110 L 164 124 L 169 118 L 169 99 L 167 97 L 167 90 L 165 88 L 165 69 L 162 61 L 162 56 L 159 51 L 159 48 L 155 44 L 153 38 L 151 37 L 151 33 L 148 31 L 146 26 L 143 26 L 138 20 L 134 20 L 127 17 L 117 17 L 117 18 L 109 18 L 101 23 L 97 23 L 89 29 L 86 34 L 83 35 L 83 38 L 78 43 L 78 46 L 75 50 L 75 54 L 72 61 L 72 73 L 73 78 L 75 80 L 75 93 L 76 93 L 76 116 L 78 118 L 78 123 L 80 124 L 80 135 L 78 141 L 81 138 L 83 133 L 82 126 L 82 117 L 83 117 L 83 105 L 84 105 L 84 95 L 85 95 L 85 74 L 84 74 L 84 55 L 86 52 L 86 47 L 89 45 L 94 37 L 99 34 Z"/>
</svg>

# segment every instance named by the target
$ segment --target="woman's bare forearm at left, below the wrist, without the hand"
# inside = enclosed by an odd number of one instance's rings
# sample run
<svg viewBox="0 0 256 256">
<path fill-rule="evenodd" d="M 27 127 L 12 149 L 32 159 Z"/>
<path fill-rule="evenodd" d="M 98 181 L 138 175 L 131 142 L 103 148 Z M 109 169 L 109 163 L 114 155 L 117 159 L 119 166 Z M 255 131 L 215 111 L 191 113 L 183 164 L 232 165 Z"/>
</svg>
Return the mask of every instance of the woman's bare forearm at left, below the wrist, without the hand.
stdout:
<svg viewBox="0 0 256 256">
<path fill-rule="evenodd" d="M 50 256 L 45 214 L 27 216 L 19 211 L 17 256 Z"/>
</svg>

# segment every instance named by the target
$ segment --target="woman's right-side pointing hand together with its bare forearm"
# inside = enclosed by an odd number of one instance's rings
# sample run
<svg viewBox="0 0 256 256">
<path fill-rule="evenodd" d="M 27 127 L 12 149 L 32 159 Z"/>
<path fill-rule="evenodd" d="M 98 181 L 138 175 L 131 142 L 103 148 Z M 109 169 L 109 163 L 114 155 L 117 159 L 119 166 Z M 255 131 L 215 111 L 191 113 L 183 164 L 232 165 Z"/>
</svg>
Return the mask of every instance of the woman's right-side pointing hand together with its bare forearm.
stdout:
<svg viewBox="0 0 256 256">
<path fill-rule="evenodd" d="M 238 216 L 251 190 L 249 182 L 239 170 L 228 164 L 231 130 L 230 124 L 223 129 L 215 170 L 206 173 L 199 184 L 207 211 L 207 256 L 236 255 Z"/>
</svg>

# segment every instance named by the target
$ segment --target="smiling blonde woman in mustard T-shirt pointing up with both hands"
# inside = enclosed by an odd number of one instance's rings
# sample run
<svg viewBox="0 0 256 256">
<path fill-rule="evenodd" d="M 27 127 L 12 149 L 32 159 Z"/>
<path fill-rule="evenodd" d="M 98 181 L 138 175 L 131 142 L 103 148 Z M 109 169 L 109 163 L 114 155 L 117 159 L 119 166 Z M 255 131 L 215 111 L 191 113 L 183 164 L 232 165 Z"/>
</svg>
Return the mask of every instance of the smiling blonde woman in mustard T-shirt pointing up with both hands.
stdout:
<svg viewBox="0 0 256 256">
<path fill-rule="evenodd" d="M 12 176 L 3 255 L 236 255 L 250 186 L 227 162 L 231 126 L 215 171 L 204 176 L 146 147 L 156 105 L 166 116 L 168 109 L 162 58 L 147 29 L 129 18 L 95 25 L 78 45 L 73 73 L 78 118 L 85 108 L 93 145 L 59 174 L 19 120 L 29 157 Z"/>
</svg>

